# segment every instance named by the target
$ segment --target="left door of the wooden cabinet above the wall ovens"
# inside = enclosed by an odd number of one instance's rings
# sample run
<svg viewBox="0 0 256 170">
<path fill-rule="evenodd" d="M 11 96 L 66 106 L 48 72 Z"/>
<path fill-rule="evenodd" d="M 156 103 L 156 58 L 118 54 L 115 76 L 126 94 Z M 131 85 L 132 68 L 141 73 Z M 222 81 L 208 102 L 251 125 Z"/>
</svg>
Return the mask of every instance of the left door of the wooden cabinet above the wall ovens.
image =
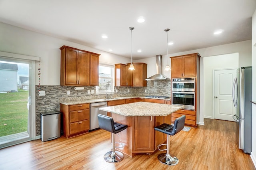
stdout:
<svg viewBox="0 0 256 170">
<path fill-rule="evenodd" d="M 171 58 L 171 67 L 172 67 L 172 78 L 180 78 L 183 75 L 183 58 L 181 57 L 172 57 Z"/>
</svg>

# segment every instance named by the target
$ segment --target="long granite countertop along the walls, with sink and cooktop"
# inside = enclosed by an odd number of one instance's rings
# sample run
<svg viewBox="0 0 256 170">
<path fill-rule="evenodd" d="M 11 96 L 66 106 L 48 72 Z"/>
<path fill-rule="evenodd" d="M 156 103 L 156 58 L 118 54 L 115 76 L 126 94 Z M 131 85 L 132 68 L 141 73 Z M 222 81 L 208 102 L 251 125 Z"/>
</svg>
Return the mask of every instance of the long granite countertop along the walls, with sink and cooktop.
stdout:
<svg viewBox="0 0 256 170">
<path fill-rule="evenodd" d="M 60 103 L 65 105 L 74 105 L 74 104 L 86 104 L 86 103 L 96 103 L 96 102 L 108 102 L 113 100 L 122 100 L 122 99 L 130 99 L 130 98 L 144 98 L 144 96 L 125 96 L 125 97 L 113 97 L 108 99 L 97 98 L 97 99 L 86 99 L 86 100 L 70 100 L 70 101 L 61 101 Z M 163 99 L 159 99 L 159 100 L 163 100 Z M 164 100 L 171 100 L 171 98 L 166 98 Z"/>
</svg>

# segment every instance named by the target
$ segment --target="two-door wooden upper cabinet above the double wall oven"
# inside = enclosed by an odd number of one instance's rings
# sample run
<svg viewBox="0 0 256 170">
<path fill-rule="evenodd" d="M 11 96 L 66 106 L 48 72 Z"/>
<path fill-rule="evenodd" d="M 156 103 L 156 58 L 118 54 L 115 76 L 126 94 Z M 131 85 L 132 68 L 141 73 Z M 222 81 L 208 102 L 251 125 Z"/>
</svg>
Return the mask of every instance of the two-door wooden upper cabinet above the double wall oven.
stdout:
<svg viewBox="0 0 256 170">
<path fill-rule="evenodd" d="M 196 77 L 197 60 L 200 57 L 198 53 L 171 57 L 172 78 Z"/>
</svg>

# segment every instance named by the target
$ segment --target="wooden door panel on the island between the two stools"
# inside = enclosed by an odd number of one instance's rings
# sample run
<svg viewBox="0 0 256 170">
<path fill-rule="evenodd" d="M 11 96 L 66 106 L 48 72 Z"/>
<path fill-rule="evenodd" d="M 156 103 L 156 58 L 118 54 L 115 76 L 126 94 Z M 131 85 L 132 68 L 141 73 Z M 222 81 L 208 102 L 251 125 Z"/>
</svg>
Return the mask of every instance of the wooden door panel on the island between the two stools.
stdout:
<svg viewBox="0 0 256 170">
<path fill-rule="evenodd" d="M 134 121 L 133 151 L 151 151 L 154 148 L 154 117 L 136 116 Z M 143 126 L 142 126 L 143 125 Z"/>
</svg>

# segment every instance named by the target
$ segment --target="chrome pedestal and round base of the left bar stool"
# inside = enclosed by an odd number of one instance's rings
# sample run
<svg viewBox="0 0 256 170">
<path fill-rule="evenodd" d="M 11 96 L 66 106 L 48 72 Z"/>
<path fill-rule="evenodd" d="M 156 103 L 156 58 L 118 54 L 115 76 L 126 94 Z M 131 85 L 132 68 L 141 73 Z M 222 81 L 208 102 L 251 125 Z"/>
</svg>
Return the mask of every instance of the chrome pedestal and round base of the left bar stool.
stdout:
<svg viewBox="0 0 256 170">
<path fill-rule="evenodd" d="M 110 163 L 120 162 L 124 158 L 124 154 L 122 154 L 122 152 L 116 151 L 116 148 L 115 148 L 116 135 L 114 133 L 111 133 L 111 135 L 112 135 L 112 151 L 109 151 L 104 155 L 104 160 Z"/>
</svg>

